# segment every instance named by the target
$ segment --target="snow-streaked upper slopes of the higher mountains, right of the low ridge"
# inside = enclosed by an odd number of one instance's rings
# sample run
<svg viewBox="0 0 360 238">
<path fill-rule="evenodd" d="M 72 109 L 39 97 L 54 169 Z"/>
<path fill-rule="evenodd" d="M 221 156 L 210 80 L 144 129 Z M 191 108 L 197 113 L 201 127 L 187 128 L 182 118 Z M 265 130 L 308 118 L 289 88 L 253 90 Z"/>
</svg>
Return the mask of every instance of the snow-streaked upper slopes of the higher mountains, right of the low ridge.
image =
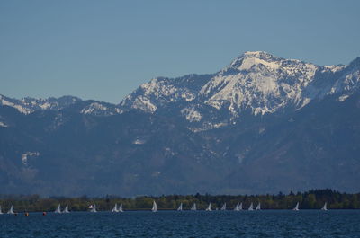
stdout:
<svg viewBox="0 0 360 238">
<path fill-rule="evenodd" d="M 233 120 L 244 110 L 254 115 L 287 108 L 299 110 L 312 100 L 334 93 L 343 93 L 341 100 L 346 100 L 359 88 L 359 61 L 349 66 L 317 66 L 263 51 L 246 52 L 213 75 L 152 79 L 130 93 L 120 106 L 154 113 L 158 108 L 180 103 L 184 104 L 180 112 L 189 122 L 226 125 L 216 112 L 206 116 L 206 112 L 195 109 L 208 105 L 221 113 L 228 111 Z"/>
</svg>

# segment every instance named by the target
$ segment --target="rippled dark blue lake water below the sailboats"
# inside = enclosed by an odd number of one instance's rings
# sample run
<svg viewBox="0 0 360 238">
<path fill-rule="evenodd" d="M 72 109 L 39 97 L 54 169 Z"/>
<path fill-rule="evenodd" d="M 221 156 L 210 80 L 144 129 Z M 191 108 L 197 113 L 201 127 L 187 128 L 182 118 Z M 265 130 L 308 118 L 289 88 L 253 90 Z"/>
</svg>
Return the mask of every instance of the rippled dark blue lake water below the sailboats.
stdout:
<svg viewBox="0 0 360 238">
<path fill-rule="evenodd" d="M 360 237 L 359 210 L 0 215 L 0 237 Z"/>
</svg>

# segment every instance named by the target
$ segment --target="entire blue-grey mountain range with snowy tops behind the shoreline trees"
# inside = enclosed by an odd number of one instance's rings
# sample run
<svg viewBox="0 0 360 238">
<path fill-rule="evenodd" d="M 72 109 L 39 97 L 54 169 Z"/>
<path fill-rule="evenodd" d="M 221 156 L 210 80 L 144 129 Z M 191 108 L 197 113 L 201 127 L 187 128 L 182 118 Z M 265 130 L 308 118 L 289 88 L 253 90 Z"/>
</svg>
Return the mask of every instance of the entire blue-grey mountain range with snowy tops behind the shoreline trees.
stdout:
<svg viewBox="0 0 360 238">
<path fill-rule="evenodd" d="M 118 105 L 0 96 L 3 193 L 358 191 L 360 58 L 316 66 L 246 52 L 159 77 Z"/>
</svg>

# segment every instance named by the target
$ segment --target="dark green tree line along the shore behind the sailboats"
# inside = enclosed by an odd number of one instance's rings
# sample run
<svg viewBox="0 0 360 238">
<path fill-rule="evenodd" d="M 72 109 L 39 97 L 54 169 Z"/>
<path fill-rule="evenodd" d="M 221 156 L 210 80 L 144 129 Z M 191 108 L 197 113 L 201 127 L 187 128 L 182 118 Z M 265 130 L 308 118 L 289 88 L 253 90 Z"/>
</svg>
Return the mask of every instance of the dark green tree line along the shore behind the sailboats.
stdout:
<svg viewBox="0 0 360 238">
<path fill-rule="evenodd" d="M 234 208 L 238 202 L 244 207 L 251 203 L 261 203 L 262 209 L 292 209 L 299 202 L 301 209 L 320 209 L 324 203 L 329 209 L 358 209 L 360 208 L 360 193 L 341 193 L 336 190 L 309 190 L 306 192 L 290 192 L 277 195 L 163 195 L 158 197 L 139 196 L 135 198 L 121 198 L 106 195 L 103 198 L 49 197 L 40 198 L 39 195 L 0 195 L 0 206 L 3 212 L 12 205 L 16 212 L 51 212 L 58 204 L 68 205 L 70 211 L 87 211 L 88 207 L 96 204 L 99 211 L 110 211 L 114 204 L 122 204 L 124 210 L 149 210 L 153 201 L 157 202 L 159 210 L 175 210 L 183 203 L 184 210 L 190 209 L 193 203 L 199 210 L 204 210 L 211 203 L 213 209 L 226 203 L 228 209 Z"/>
</svg>

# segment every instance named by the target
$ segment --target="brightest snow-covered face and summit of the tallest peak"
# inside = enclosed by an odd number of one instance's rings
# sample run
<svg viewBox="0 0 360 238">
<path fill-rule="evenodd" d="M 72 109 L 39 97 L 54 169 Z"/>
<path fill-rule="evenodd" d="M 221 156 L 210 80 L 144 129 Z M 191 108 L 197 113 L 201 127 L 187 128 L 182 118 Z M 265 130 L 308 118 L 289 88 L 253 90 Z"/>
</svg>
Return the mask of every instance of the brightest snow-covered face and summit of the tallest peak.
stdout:
<svg viewBox="0 0 360 238">
<path fill-rule="evenodd" d="M 272 113 L 289 104 L 302 107 L 302 91 L 319 66 L 299 60 L 274 57 L 265 52 L 247 52 L 221 70 L 200 91 L 205 103 L 215 107 L 229 104 L 234 116 L 245 109 L 255 115 Z"/>
</svg>

